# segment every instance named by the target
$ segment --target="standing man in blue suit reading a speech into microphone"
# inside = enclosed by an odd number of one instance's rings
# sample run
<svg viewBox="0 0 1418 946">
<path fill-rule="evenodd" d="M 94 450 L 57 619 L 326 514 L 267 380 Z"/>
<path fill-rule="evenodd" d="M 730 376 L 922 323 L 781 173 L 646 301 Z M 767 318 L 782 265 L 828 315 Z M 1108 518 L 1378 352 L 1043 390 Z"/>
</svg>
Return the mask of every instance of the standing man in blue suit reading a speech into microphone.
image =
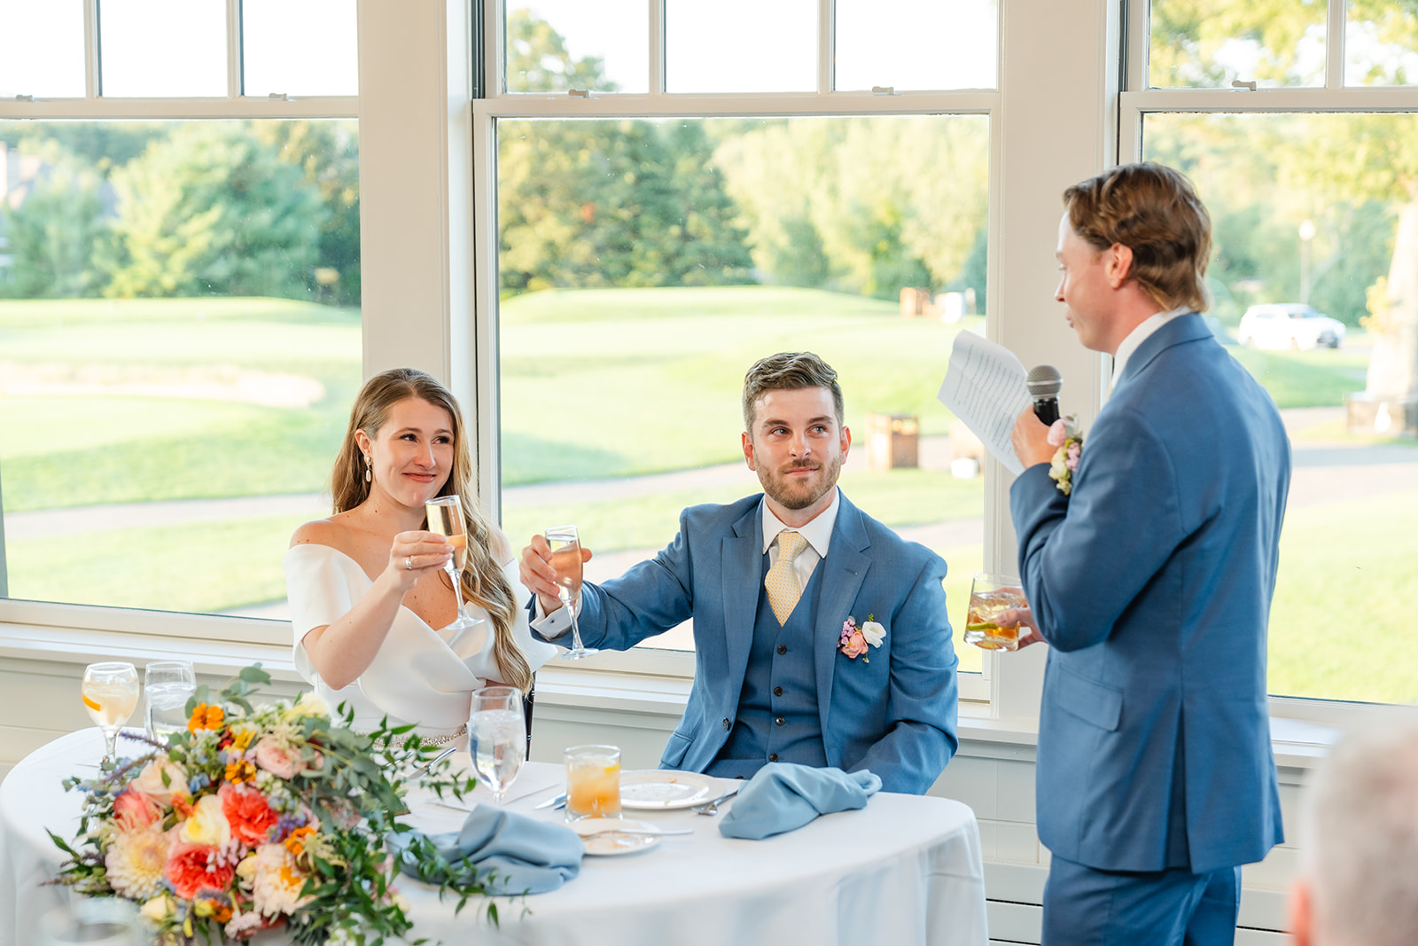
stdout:
<svg viewBox="0 0 1418 946">
<path fill-rule="evenodd" d="M 1198 315 L 1211 221 L 1187 179 L 1129 165 L 1064 203 L 1056 298 L 1113 393 L 1071 495 L 1048 428 L 1014 428 L 1020 576 L 1051 645 L 1044 942 L 1231 943 L 1239 865 L 1282 840 L 1265 660 L 1289 441 Z"/>
</svg>

